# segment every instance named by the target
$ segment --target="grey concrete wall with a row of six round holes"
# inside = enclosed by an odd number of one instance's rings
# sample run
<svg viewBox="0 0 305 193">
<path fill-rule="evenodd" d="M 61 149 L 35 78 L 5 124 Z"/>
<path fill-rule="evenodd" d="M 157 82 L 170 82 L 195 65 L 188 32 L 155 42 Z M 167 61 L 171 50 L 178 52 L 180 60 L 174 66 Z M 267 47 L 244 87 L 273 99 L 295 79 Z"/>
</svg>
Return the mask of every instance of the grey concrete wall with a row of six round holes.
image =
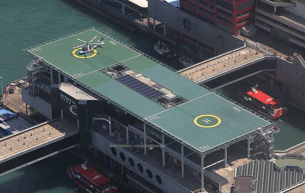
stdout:
<svg viewBox="0 0 305 193">
<path fill-rule="evenodd" d="M 187 188 L 185 188 L 181 184 L 179 184 L 176 181 L 170 179 L 165 174 L 163 174 L 162 172 L 160 172 L 160 171 L 156 170 L 155 168 L 151 167 L 147 163 L 143 162 L 138 157 L 136 157 L 133 154 L 127 152 L 125 149 L 123 149 L 119 146 L 116 146 L 114 143 L 110 142 L 109 140 L 104 138 L 102 135 L 99 135 L 98 133 L 96 133 L 93 130 L 91 130 L 91 137 L 92 137 L 92 146 L 96 147 L 101 152 L 105 153 L 107 156 L 113 158 L 118 163 L 127 167 L 129 170 L 135 172 L 136 174 L 143 177 L 144 179 L 146 179 L 150 183 L 154 184 L 158 188 L 162 189 L 163 191 L 165 191 L 167 193 L 191 193 L 190 190 L 188 190 Z M 115 146 L 115 149 L 117 150 L 117 155 L 116 156 L 112 155 L 111 150 L 110 150 L 110 145 Z M 120 152 L 124 153 L 124 155 L 125 155 L 126 160 L 124 162 L 120 160 L 120 155 L 119 155 Z M 134 163 L 135 163 L 134 167 L 131 167 L 129 165 L 128 158 L 131 158 L 134 161 Z M 138 169 L 137 169 L 137 164 L 138 163 L 142 164 L 143 173 L 138 171 Z M 162 165 L 162 163 L 160 163 L 160 165 Z M 146 176 L 146 172 L 145 172 L 146 169 L 149 169 L 149 170 L 152 171 L 152 176 L 153 176 L 152 178 L 149 178 L 149 177 Z M 162 184 L 158 184 L 156 182 L 156 178 L 155 178 L 156 174 L 158 174 L 161 177 Z"/>
</svg>

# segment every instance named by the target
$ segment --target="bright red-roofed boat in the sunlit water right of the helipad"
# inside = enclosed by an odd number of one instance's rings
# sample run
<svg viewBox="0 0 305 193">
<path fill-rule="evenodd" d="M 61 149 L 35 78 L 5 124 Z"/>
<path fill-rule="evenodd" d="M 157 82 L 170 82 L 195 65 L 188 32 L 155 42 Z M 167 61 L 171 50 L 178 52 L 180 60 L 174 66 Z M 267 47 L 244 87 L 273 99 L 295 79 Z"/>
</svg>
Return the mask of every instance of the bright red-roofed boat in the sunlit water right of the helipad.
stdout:
<svg viewBox="0 0 305 193">
<path fill-rule="evenodd" d="M 267 95 L 267 93 L 258 90 L 257 86 L 258 85 L 251 89 L 241 89 L 238 91 L 237 96 L 242 103 L 270 119 L 284 116 L 287 113 L 287 107 L 281 105 L 281 100 L 274 99 Z"/>
</svg>

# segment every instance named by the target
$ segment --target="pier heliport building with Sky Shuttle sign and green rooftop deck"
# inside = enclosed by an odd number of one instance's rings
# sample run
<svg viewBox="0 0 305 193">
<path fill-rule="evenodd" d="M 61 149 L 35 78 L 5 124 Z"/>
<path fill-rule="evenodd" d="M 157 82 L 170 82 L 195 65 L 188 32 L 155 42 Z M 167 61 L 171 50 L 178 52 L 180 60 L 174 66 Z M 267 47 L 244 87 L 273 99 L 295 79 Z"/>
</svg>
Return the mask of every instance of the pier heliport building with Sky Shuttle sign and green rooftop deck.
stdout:
<svg viewBox="0 0 305 193">
<path fill-rule="evenodd" d="M 77 38 L 101 35 L 103 56 L 70 56 Z M 60 48 L 57 53 L 49 51 L 54 46 Z M 28 90 L 25 102 L 35 104 L 39 97 L 48 104 L 35 106 L 41 114 L 70 117 L 79 127 L 81 148 L 126 176 L 137 191 L 215 191 L 228 180 L 209 167 L 227 167 L 228 155 L 236 159 L 231 152 L 273 156 L 273 121 L 98 28 L 24 51 L 35 58 L 27 66 L 34 79 L 23 88 Z M 44 76 L 49 89 L 43 90 L 39 79 Z"/>
</svg>

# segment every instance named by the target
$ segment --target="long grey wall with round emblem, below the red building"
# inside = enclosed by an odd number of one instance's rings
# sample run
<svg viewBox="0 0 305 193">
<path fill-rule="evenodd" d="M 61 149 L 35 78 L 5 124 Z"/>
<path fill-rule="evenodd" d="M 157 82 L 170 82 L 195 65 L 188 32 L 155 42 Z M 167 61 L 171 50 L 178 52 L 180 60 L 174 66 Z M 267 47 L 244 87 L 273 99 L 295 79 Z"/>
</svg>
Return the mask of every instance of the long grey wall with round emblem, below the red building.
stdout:
<svg viewBox="0 0 305 193">
<path fill-rule="evenodd" d="M 149 16 L 218 51 L 218 54 L 243 46 L 243 41 L 160 0 L 148 1 Z M 183 19 L 191 23 L 187 31 Z"/>
</svg>

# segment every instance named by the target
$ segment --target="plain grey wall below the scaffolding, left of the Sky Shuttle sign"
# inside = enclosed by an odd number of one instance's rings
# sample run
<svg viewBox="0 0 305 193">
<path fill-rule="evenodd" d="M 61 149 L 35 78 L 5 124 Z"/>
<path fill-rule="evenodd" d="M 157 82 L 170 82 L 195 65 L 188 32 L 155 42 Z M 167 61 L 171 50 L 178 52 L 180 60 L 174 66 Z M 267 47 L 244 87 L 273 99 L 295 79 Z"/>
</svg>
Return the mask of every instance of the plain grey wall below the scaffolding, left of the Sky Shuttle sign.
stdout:
<svg viewBox="0 0 305 193">
<path fill-rule="evenodd" d="M 36 109 L 39 113 L 47 117 L 52 118 L 52 106 L 40 97 L 32 97 L 28 89 L 21 88 L 22 101 Z"/>
</svg>

